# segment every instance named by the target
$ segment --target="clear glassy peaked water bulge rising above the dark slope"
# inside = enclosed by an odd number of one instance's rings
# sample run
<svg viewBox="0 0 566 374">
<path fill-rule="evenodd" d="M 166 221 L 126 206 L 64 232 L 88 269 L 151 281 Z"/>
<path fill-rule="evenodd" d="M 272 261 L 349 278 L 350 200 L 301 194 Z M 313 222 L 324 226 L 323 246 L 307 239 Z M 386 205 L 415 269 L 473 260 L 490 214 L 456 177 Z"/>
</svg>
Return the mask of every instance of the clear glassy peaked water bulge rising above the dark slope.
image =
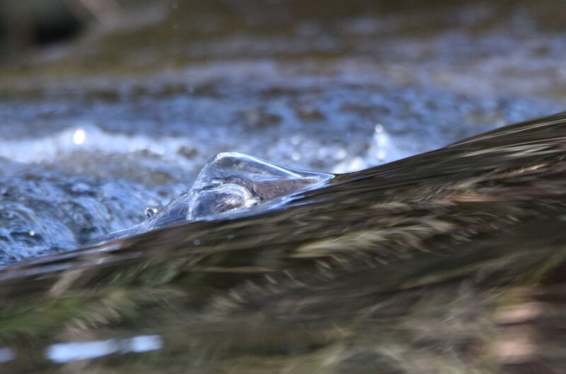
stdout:
<svg viewBox="0 0 566 374">
<path fill-rule="evenodd" d="M 124 238 L 186 221 L 233 218 L 256 206 L 262 210 L 273 209 L 282 206 L 292 195 L 320 187 L 332 177 L 332 174 L 289 168 L 242 153 L 219 153 L 202 168 L 190 191 L 161 211 L 147 208 L 147 221 L 104 235 L 94 242 Z"/>
</svg>

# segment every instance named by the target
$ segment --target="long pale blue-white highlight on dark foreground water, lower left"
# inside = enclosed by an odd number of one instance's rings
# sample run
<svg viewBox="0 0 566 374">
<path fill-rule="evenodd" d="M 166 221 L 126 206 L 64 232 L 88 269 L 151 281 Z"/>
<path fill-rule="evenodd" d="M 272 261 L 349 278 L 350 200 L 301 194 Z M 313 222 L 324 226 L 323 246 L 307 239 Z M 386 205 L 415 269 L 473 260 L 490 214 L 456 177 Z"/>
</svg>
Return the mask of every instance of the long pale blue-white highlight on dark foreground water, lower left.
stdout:
<svg viewBox="0 0 566 374">
<path fill-rule="evenodd" d="M 159 335 L 139 335 L 129 339 L 110 339 L 59 343 L 48 346 L 45 357 L 54 363 L 67 363 L 108 356 L 113 353 L 144 353 L 161 349 Z"/>
</svg>

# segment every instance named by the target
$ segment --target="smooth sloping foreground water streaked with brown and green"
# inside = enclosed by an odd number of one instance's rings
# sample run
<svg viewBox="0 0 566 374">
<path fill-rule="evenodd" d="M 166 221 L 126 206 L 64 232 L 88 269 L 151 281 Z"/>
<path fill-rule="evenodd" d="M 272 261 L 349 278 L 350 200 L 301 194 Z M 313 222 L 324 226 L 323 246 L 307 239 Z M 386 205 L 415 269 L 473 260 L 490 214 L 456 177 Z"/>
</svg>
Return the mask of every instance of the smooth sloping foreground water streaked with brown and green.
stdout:
<svg viewBox="0 0 566 374">
<path fill-rule="evenodd" d="M 2 372 L 558 373 L 565 139 L 564 114 L 524 122 L 278 209 L 8 267 Z M 161 346 L 42 356 L 134 335 Z"/>
</svg>

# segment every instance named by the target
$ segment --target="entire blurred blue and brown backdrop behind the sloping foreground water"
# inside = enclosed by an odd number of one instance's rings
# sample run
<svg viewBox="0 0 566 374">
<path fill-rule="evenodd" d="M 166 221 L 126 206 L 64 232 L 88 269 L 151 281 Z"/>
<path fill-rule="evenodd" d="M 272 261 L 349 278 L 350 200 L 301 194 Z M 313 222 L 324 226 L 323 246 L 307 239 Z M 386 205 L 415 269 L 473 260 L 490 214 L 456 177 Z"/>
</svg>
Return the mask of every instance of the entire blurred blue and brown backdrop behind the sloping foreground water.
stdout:
<svg viewBox="0 0 566 374">
<path fill-rule="evenodd" d="M 1 0 L 0 264 L 239 151 L 347 173 L 565 109 L 566 3 Z"/>
</svg>

